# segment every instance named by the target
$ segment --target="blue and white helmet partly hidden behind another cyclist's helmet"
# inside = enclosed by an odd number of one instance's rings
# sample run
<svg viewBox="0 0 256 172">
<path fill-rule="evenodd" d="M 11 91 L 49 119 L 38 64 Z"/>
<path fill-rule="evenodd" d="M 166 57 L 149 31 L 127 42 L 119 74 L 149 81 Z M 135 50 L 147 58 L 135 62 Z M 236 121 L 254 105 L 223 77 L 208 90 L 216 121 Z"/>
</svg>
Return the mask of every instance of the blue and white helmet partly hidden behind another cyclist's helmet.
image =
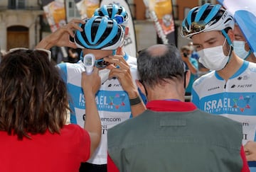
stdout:
<svg viewBox="0 0 256 172">
<path fill-rule="evenodd" d="M 120 25 L 127 25 L 129 15 L 124 6 L 117 6 L 116 4 L 103 5 L 95 10 L 94 16 L 107 16 L 117 21 Z"/>
</svg>

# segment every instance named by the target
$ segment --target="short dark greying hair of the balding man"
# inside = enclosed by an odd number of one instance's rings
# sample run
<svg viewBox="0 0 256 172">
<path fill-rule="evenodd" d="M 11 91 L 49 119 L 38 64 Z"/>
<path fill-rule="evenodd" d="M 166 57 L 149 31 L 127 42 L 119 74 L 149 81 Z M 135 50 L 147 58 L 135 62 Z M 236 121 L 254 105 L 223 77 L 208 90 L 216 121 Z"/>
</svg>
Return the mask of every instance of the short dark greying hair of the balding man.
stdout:
<svg viewBox="0 0 256 172">
<path fill-rule="evenodd" d="M 180 52 L 175 45 L 166 46 L 165 52 L 151 55 L 149 48 L 138 53 L 137 69 L 141 81 L 154 87 L 156 84 L 166 82 L 166 79 L 183 79 L 184 64 Z"/>
</svg>

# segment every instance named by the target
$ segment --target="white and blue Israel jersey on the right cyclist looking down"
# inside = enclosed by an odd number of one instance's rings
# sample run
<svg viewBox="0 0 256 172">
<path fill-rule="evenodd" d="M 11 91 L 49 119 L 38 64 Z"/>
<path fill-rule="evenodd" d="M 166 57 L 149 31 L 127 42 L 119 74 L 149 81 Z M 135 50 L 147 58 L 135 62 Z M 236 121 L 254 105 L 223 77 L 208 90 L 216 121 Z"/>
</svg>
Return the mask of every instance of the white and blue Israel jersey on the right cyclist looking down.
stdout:
<svg viewBox="0 0 256 172">
<path fill-rule="evenodd" d="M 191 101 L 201 110 L 242 123 L 242 144 L 255 140 L 256 64 L 245 61 L 228 81 L 216 71 L 193 83 Z"/>
</svg>

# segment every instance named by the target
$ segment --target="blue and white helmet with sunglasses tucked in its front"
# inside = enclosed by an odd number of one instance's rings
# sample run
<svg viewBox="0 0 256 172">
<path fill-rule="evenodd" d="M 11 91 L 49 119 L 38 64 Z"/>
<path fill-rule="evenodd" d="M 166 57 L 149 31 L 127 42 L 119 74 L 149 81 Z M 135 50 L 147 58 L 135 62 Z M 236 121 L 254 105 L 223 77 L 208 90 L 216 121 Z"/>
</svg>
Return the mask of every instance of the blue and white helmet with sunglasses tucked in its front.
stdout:
<svg viewBox="0 0 256 172">
<path fill-rule="evenodd" d="M 198 33 L 233 29 L 235 21 L 232 14 L 225 10 L 220 4 L 203 4 L 196 6 L 188 12 L 181 25 L 181 36 L 191 38 Z"/>
</svg>

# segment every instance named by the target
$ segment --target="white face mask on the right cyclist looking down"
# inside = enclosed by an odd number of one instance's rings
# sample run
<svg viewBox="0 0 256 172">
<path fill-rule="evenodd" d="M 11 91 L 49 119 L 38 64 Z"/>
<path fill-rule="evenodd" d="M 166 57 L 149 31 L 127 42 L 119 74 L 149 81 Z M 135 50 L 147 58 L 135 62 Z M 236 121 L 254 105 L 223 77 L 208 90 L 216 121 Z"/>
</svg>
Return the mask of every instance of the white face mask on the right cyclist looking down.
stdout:
<svg viewBox="0 0 256 172">
<path fill-rule="evenodd" d="M 201 64 L 203 64 L 204 67 L 211 70 L 219 71 L 223 69 L 225 65 L 228 63 L 229 59 L 229 57 L 225 56 L 223 53 L 223 45 L 205 48 L 203 50 L 198 51 L 198 55 L 200 57 L 199 62 L 201 62 Z"/>
</svg>

